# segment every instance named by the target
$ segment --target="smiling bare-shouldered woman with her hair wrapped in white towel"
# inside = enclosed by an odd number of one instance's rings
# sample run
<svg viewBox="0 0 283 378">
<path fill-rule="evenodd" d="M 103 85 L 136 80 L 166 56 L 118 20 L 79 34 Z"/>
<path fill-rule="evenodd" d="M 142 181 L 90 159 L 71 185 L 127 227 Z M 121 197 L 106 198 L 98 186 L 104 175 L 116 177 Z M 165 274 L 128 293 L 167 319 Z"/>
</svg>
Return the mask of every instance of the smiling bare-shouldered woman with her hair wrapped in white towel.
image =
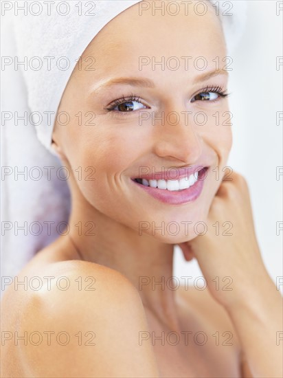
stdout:
<svg viewBox="0 0 283 378">
<path fill-rule="evenodd" d="M 281 377 L 281 296 L 246 181 L 225 175 L 231 124 L 216 121 L 229 113 L 233 35 L 219 2 L 174 14 L 177 2 L 93 3 L 95 21 L 60 19 L 54 39 L 49 20 L 36 23 L 46 36 L 30 45 L 80 55 L 69 70 L 23 70 L 32 111 L 56 110 L 36 135 L 68 173 L 71 210 L 64 232 L 5 280 L 3 376 Z M 233 232 L 220 234 L 225 223 Z M 174 245 L 198 261 L 201 290 L 174 286 Z"/>
</svg>

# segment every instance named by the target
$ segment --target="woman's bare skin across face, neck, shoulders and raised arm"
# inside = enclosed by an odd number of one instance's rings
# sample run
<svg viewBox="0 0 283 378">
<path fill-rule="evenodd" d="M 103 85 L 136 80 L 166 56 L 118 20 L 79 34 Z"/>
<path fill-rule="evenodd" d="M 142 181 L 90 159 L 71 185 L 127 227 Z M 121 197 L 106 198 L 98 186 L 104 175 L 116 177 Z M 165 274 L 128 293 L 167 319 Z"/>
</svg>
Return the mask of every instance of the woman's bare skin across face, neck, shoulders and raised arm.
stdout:
<svg viewBox="0 0 283 378">
<path fill-rule="evenodd" d="M 69 236 L 60 236 L 19 275 L 67 276 L 70 282 L 78 276 L 95 277 L 95 295 L 78 291 L 74 283 L 67 291 L 48 290 L 45 285 L 41 291 L 23 293 L 9 287 L 3 297 L 3 313 L 10 309 L 12 314 L 3 318 L 5 329 L 15 329 L 19 319 L 21 332 L 52 329 L 73 335 L 78 326 L 82 334 L 95 329 L 99 348 L 78 347 L 73 339 L 64 349 L 56 344 L 19 348 L 7 343 L 3 373 L 11 377 L 280 377 L 282 348 L 275 344 L 275 333 L 281 329 L 282 298 L 260 256 L 247 183 L 237 173 L 230 176 L 231 181 L 224 177 L 231 127 L 221 122 L 216 126 L 213 114 L 229 111 L 228 101 L 191 101 L 207 86 L 227 89 L 227 71 L 196 81 L 200 74 L 215 70 L 216 56 L 220 62 L 227 56 L 220 22 L 210 5 L 201 22 L 194 12 L 174 17 L 144 12 L 139 16 L 138 7 L 133 5 L 119 14 L 95 36 L 82 55 L 82 66 L 73 71 L 58 109 L 67 111 L 71 122 L 56 124 L 53 147 L 63 165 L 74 172 L 82 167 L 83 173 L 82 179 L 73 174 L 68 181 L 72 197 L 69 234 L 77 249 Z M 170 30 L 166 38 L 164 30 Z M 86 69 L 89 56 L 95 56 L 95 71 Z M 192 63 L 189 70 L 182 64 L 176 71 L 168 67 L 162 71 L 160 66 L 152 70 L 151 65 L 139 70 L 139 56 L 156 56 L 157 60 L 161 56 L 192 56 L 193 60 L 205 56 L 208 64 L 203 71 Z M 124 76 L 150 79 L 155 87 L 101 89 L 104 82 Z M 113 100 L 131 93 L 141 98 L 144 107 L 135 102 L 139 109 L 124 115 L 104 110 Z M 153 126 L 151 120 L 139 125 L 140 110 L 157 115 L 161 111 L 204 111 L 207 124 L 200 126 L 194 118 L 185 124 L 181 118 L 177 126 L 168 122 Z M 78 111 L 95 113 L 95 126 L 78 126 Z M 210 166 L 210 170 L 203 192 L 191 203 L 161 203 L 131 182 L 131 177 L 139 176 L 141 166 L 159 171 L 193 164 Z M 95 168 L 95 181 L 84 179 L 91 173 L 84 173 L 87 167 Z M 153 235 L 152 229 L 139 235 L 140 221 L 181 225 L 188 220 L 192 221 L 188 232 L 180 227 L 176 236 L 167 232 Z M 86 235 L 85 228 L 78 234 L 79 221 L 95 223 L 95 236 Z M 199 221 L 207 223 L 207 233 L 196 237 L 194 224 Z M 220 229 L 216 236 L 212 226 L 216 221 L 220 225 L 230 221 L 233 234 L 223 236 Z M 175 244 L 186 260 L 196 258 L 207 289 L 172 291 L 160 285 L 155 290 L 151 285 L 140 289 L 139 277 L 160 281 L 162 276 L 173 276 Z M 220 282 L 231 277 L 233 290 L 216 290 L 216 276 Z M 233 344 L 231 348 L 223 343 L 216 347 L 214 342 L 201 348 L 196 343 L 137 344 L 140 331 L 160 335 L 188 330 L 210 335 L 230 332 Z"/>
</svg>

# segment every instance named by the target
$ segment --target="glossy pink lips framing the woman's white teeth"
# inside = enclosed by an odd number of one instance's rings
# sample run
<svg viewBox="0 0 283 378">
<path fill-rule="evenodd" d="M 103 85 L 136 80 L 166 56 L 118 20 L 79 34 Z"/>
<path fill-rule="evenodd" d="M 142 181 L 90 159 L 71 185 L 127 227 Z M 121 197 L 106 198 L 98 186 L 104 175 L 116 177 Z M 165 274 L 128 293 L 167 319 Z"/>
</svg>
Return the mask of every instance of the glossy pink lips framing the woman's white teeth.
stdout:
<svg viewBox="0 0 283 378">
<path fill-rule="evenodd" d="M 199 170 L 202 170 L 202 169 L 203 169 L 203 174 L 201 176 L 204 176 L 207 174 L 209 167 L 201 167 L 201 169 Z M 199 170 L 196 170 L 196 172 L 198 172 Z M 192 173 L 194 173 L 194 170 L 190 170 L 190 175 L 192 175 Z M 152 176 L 143 175 L 140 178 L 148 179 L 148 177 L 152 177 Z M 155 177 L 157 177 L 156 174 L 155 174 Z M 185 177 L 185 175 L 182 173 L 182 175 L 180 175 L 179 177 L 181 179 Z M 163 179 L 163 178 L 160 178 L 160 179 Z M 204 186 L 204 179 L 198 179 L 198 181 L 196 181 L 196 183 L 193 186 L 190 186 L 190 188 L 188 189 L 170 191 L 167 189 L 164 190 L 164 189 L 158 189 L 158 188 L 151 188 L 150 186 L 144 186 L 142 184 L 139 184 L 137 181 L 134 181 L 134 179 L 131 179 L 131 181 L 133 181 L 133 184 L 135 184 L 137 187 L 141 188 L 141 190 L 145 190 L 151 197 L 154 197 L 155 199 L 161 201 L 162 203 L 168 203 L 170 205 L 183 205 L 184 203 L 196 201 L 196 199 L 198 199 L 199 196 L 201 195 L 201 192 L 203 191 L 203 186 Z"/>
</svg>

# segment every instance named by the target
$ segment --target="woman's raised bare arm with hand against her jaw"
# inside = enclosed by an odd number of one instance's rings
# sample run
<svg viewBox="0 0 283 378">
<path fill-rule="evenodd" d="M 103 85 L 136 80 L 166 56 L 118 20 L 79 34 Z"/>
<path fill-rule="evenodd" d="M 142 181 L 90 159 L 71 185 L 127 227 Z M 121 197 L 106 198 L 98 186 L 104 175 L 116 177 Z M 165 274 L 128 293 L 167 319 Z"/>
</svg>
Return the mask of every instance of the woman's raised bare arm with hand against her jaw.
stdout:
<svg viewBox="0 0 283 378">
<path fill-rule="evenodd" d="M 229 221 L 233 225 L 230 235 L 217 235 L 212 226 L 216 221 L 220 225 Z M 243 177 L 233 173 L 232 181 L 222 182 L 207 223 L 207 234 L 180 247 L 185 256 L 196 257 L 210 293 L 229 314 L 251 375 L 283 377 L 283 342 L 276 340 L 283 331 L 282 296 L 260 256 L 249 190 Z M 216 277 L 219 282 L 228 277 L 232 282 L 229 289 L 217 288 Z"/>
</svg>

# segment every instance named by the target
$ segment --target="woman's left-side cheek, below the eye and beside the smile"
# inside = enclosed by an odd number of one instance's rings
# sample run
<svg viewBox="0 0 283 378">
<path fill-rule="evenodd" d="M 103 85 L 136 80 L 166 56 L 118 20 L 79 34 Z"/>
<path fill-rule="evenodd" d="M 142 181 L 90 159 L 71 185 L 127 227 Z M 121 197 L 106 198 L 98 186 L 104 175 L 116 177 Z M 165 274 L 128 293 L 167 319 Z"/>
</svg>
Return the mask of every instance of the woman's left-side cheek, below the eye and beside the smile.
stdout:
<svg viewBox="0 0 283 378">
<path fill-rule="evenodd" d="M 99 124 L 97 129 L 88 129 L 77 137 L 78 148 L 71 154 L 71 166 L 80 167 L 84 177 L 90 175 L 80 181 L 77 178 L 78 187 L 95 208 L 109 208 L 124 195 L 127 170 L 143 154 L 140 135 L 129 133 L 121 125 Z"/>
</svg>

